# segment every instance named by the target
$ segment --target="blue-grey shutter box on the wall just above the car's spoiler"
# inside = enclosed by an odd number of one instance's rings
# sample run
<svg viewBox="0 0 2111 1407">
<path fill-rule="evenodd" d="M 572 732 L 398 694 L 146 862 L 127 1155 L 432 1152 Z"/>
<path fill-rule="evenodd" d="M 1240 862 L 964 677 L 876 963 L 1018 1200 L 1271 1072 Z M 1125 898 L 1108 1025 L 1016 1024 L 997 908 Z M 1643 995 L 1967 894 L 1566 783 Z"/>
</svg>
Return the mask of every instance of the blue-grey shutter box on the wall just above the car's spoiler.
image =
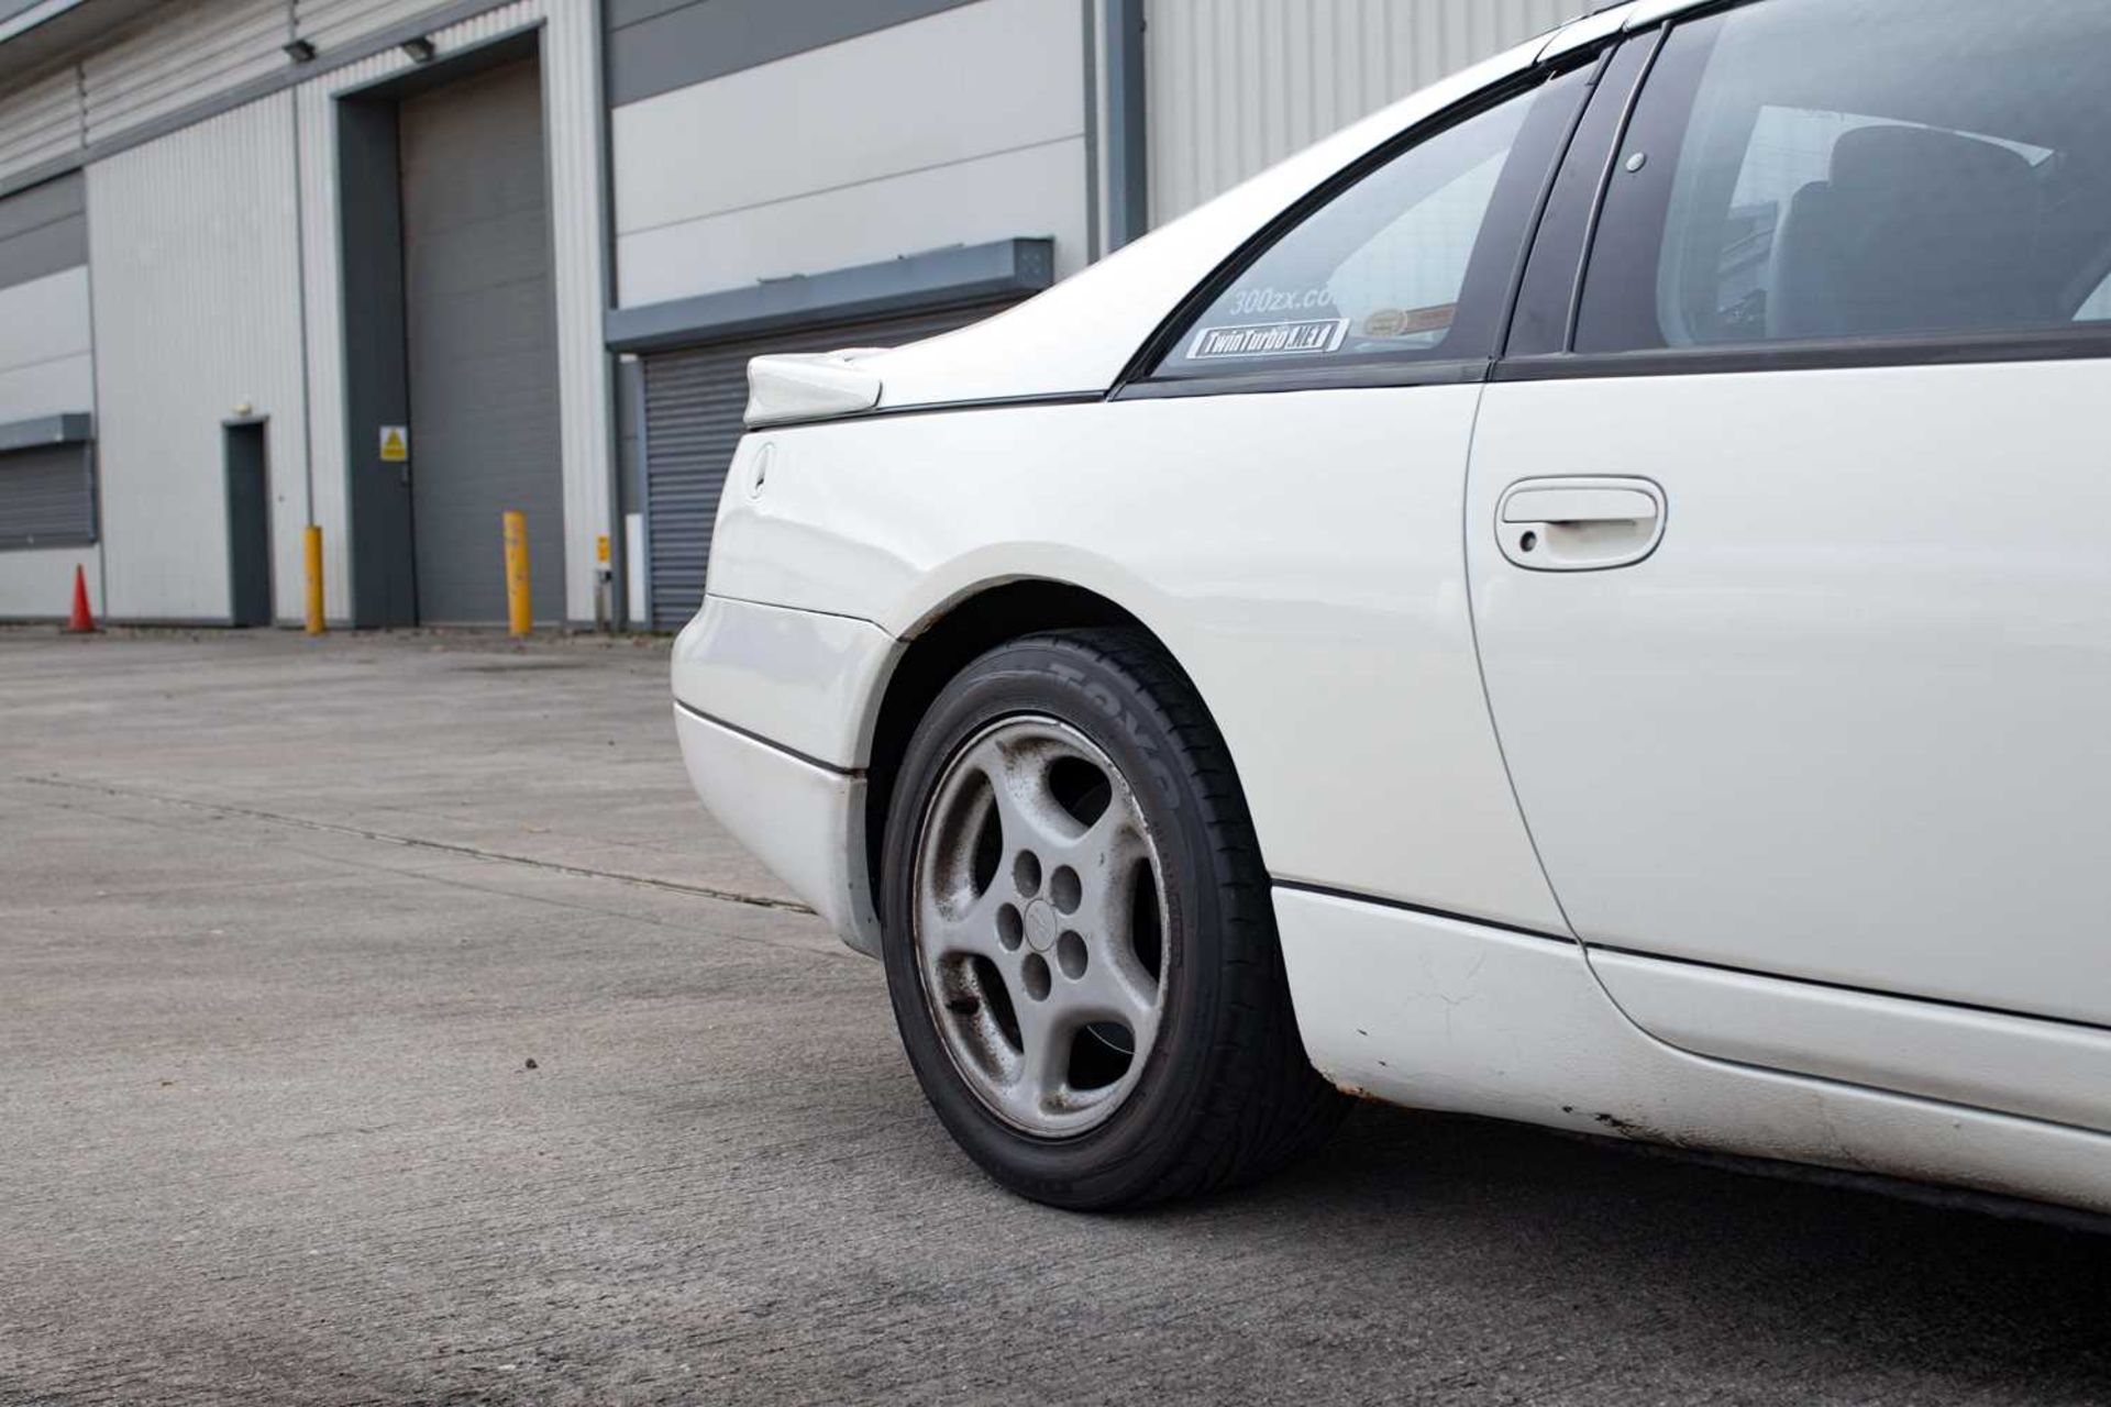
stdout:
<svg viewBox="0 0 2111 1407">
<path fill-rule="evenodd" d="M 657 352 L 815 323 L 876 319 L 912 308 L 1022 297 L 1039 293 L 1053 281 L 1053 240 L 1007 238 L 931 249 L 825 274 L 771 278 L 745 289 L 699 293 L 665 304 L 612 308 L 604 331 L 616 352 Z"/>
</svg>

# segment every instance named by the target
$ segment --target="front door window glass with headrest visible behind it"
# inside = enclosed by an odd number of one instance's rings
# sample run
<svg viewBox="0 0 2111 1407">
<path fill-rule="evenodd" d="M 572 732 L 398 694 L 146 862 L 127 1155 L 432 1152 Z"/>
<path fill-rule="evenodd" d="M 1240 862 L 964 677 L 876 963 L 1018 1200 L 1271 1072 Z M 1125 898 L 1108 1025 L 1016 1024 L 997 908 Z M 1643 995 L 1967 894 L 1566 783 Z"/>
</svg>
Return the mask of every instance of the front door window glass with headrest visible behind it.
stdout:
<svg viewBox="0 0 2111 1407">
<path fill-rule="evenodd" d="M 2090 0 L 1761 0 L 1682 25 L 1606 192 L 1577 350 L 2105 319 L 2107 63 Z"/>
</svg>

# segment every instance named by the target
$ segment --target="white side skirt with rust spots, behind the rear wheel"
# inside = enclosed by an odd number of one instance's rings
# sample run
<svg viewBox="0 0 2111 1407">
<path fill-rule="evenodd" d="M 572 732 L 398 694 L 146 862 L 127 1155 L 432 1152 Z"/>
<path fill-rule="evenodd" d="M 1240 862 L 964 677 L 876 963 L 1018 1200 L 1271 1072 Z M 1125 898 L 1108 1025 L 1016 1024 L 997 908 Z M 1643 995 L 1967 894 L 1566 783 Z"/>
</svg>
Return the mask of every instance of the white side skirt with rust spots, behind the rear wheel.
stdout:
<svg viewBox="0 0 2111 1407">
<path fill-rule="evenodd" d="M 1298 1029 L 1355 1095 L 2111 1213 L 2111 1137 L 1676 1051 L 1568 941 L 1275 890 Z"/>
</svg>

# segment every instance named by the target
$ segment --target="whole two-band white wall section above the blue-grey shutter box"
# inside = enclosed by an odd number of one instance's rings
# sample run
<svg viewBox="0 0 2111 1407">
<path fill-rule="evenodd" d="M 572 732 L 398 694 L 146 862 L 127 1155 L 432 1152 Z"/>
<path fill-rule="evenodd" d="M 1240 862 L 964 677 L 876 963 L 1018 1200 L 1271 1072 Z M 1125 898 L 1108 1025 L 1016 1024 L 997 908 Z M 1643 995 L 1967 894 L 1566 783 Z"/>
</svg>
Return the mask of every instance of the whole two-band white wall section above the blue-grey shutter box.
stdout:
<svg viewBox="0 0 2111 1407">
<path fill-rule="evenodd" d="M 623 302 L 1011 234 L 1074 268 L 1083 53 L 1077 0 L 982 0 L 619 108 Z"/>
</svg>

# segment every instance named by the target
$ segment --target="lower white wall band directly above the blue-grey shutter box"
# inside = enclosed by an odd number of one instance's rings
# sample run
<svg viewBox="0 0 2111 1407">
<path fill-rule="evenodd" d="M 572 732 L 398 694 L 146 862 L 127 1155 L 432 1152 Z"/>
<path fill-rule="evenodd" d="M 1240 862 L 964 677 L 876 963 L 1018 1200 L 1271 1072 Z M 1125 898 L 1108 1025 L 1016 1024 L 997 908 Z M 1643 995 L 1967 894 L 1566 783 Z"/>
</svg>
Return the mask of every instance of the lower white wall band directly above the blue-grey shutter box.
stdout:
<svg viewBox="0 0 2111 1407">
<path fill-rule="evenodd" d="M 625 234 L 621 302 L 686 297 L 703 276 L 754 283 L 1011 236 L 1053 236 L 1062 278 L 1085 262 L 1083 190 L 1085 141 L 1070 137 Z"/>
</svg>

